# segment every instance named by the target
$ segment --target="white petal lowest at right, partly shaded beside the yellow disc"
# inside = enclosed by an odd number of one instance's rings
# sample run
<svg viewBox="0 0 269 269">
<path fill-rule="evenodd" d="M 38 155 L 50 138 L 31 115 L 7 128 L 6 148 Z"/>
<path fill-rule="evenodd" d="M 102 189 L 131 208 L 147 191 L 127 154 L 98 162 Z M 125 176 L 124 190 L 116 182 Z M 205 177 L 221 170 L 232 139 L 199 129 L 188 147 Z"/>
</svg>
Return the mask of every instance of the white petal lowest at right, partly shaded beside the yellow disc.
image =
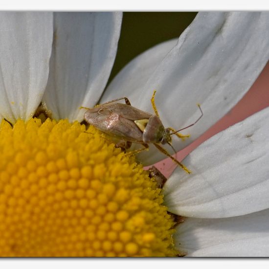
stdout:
<svg viewBox="0 0 269 269">
<path fill-rule="evenodd" d="M 269 256 L 269 210 L 225 219 L 186 218 L 175 234 L 187 256 Z"/>
</svg>

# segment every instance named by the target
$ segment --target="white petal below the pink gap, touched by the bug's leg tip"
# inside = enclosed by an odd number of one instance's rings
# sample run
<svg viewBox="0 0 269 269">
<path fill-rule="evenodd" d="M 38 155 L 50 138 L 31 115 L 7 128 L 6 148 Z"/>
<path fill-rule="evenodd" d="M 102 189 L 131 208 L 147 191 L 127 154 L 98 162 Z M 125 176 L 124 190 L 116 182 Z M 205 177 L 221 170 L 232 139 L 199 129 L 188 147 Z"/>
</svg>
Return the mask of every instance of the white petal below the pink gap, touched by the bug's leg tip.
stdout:
<svg viewBox="0 0 269 269">
<path fill-rule="evenodd" d="M 214 135 L 177 168 L 163 194 L 169 211 L 196 218 L 240 216 L 269 208 L 269 108 Z"/>
</svg>

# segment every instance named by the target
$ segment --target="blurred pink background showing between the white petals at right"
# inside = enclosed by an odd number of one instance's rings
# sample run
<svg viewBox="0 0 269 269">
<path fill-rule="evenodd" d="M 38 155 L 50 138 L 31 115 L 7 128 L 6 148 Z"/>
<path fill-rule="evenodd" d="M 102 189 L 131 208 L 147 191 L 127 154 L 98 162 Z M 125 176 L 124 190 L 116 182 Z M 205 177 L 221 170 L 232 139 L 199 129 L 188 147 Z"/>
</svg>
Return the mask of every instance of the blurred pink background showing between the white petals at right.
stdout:
<svg viewBox="0 0 269 269">
<path fill-rule="evenodd" d="M 217 134 L 235 123 L 244 120 L 248 116 L 258 112 L 269 106 L 269 63 L 264 67 L 260 76 L 248 90 L 246 95 L 238 102 L 238 104 L 228 112 L 223 118 L 215 123 L 210 129 L 202 134 L 193 143 L 188 145 L 177 154 L 177 159 L 181 161 L 190 152 L 197 148 L 203 141 L 207 140 L 214 134 Z M 199 124 L 199 123 L 198 123 Z M 191 132 L 190 132 L 191 134 Z M 170 159 L 159 161 L 155 164 L 157 169 L 169 178 L 177 165 Z M 145 167 L 147 169 L 149 167 Z"/>
</svg>

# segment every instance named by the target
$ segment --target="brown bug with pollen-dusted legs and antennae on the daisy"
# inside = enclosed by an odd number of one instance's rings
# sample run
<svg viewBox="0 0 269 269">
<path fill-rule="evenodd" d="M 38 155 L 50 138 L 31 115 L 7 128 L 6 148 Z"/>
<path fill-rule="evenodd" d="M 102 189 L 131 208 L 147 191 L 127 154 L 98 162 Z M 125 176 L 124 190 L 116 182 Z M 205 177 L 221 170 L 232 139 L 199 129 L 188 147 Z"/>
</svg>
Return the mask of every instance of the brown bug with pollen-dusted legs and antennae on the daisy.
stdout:
<svg viewBox="0 0 269 269">
<path fill-rule="evenodd" d="M 98 130 L 110 136 L 126 141 L 125 149 L 130 148 L 132 143 L 139 143 L 142 144 L 144 148 L 134 151 L 135 153 L 138 153 L 147 149 L 149 144 L 152 143 L 159 151 L 170 157 L 182 169 L 190 174 L 191 172 L 176 158 L 171 156 L 163 147 L 161 147 L 160 144 L 169 144 L 176 153 L 176 150 L 172 146 L 171 135 L 176 134 L 179 138 L 188 137 L 189 135 L 178 134 L 178 132 L 197 123 L 203 115 L 202 109 L 200 105 L 198 105 L 201 115 L 193 124 L 190 124 L 178 131 L 175 131 L 170 127 L 164 128 L 161 120 L 159 119 L 159 114 L 155 105 L 155 94 L 156 90 L 151 98 L 155 115 L 131 106 L 127 97 L 114 99 L 92 109 L 85 107 L 81 108 L 87 109 L 84 114 L 84 119 L 87 123 L 95 126 Z M 123 99 L 125 100 L 125 104 L 117 102 Z"/>
</svg>

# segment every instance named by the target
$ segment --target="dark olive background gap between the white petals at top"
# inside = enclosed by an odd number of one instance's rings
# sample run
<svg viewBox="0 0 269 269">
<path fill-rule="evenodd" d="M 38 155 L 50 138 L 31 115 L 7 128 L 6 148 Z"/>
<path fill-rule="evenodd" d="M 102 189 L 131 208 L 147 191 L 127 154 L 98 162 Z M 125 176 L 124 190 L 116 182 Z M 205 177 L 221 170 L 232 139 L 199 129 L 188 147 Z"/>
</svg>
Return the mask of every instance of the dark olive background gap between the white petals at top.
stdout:
<svg viewBox="0 0 269 269">
<path fill-rule="evenodd" d="M 109 82 L 135 56 L 163 41 L 178 38 L 197 12 L 124 12 L 118 52 Z"/>
</svg>

